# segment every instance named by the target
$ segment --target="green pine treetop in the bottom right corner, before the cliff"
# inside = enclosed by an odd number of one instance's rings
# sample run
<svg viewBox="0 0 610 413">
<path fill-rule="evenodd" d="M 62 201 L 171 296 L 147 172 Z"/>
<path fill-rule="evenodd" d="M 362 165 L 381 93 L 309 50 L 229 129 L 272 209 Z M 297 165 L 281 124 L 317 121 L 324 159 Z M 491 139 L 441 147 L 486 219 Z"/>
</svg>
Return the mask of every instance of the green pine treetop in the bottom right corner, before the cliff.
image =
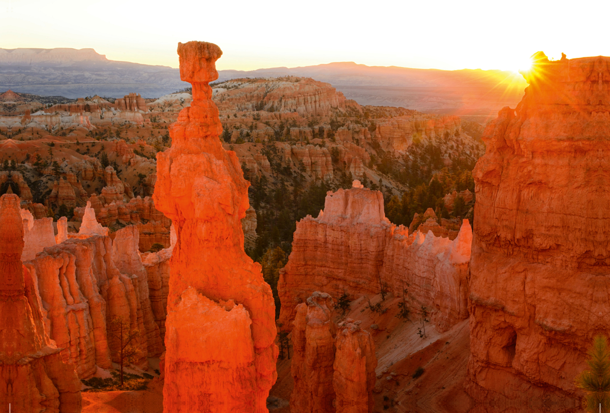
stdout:
<svg viewBox="0 0 610 413">
<path fill-rule="evenodd" d="M 610 412 L 610 350 L 606 337 L 595 337 L 588 354 L 589 369 L 576 377 L 576 387 L 584 391 L 587 411 Z"/>
</svg>

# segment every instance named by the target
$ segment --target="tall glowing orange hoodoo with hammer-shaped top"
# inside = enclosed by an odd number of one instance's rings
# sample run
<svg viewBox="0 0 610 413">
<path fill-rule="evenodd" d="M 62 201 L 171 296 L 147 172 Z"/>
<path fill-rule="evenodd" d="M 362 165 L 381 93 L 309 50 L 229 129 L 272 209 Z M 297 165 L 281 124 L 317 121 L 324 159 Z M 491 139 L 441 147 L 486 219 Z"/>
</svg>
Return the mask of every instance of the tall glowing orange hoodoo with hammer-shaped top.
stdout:
<svg viewBox="0 0 610 413">
<path fill-rule="evenodd" d="M 212 43 L 178 44 L 181 79 L 193 102 L 157 154 L 156 208 L 178 236 L 171 258 L 165 323 L 163 411 L 267 412 L 276 379 L 276 327 L 270 286 L 243 250 L 240 219 L 248 182 L 223 149 L 209 82 L 218 79 Z"/>
</svg>

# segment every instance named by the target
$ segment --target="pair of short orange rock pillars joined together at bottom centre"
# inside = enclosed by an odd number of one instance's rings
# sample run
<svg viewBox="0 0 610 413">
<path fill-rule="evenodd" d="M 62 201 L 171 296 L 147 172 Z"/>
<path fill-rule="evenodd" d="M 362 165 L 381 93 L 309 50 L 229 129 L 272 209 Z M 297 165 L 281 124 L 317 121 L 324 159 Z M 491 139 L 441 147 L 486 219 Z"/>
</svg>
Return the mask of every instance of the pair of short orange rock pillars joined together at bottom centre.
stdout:
<svg viewBox="0 0 610 413">
<path fill-rule="evenodd" d="M 296 306 L 292 330 L 290 411 L 370 413 L 375 386 L 375 343 L 360 322 L 334 323 L 334 301 L 315 291 Z"/>
</svg>

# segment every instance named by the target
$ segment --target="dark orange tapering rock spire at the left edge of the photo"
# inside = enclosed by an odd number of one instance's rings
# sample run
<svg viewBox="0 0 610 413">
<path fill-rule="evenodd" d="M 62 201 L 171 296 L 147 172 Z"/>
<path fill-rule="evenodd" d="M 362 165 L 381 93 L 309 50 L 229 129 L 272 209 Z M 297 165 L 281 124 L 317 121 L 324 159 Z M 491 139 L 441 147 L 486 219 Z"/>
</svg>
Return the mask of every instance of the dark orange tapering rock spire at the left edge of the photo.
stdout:
<svg viewBox="0 0 610 413">
<path fill-rule="evenodd" d="M 46 334 L 35 282 L 21 264 L 19 206 L 15 194 L 0 198 L 0 400 L 18 412 L 79 413 L 81 383 Z"/>
</svg>

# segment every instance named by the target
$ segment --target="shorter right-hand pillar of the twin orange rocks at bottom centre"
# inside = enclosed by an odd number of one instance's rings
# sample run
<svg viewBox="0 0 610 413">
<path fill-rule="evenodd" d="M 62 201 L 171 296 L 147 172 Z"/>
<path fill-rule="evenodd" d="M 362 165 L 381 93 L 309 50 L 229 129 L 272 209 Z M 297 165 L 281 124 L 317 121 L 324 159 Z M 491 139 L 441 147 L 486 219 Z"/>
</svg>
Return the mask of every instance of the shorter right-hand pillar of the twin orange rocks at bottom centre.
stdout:
<svg viewBox="0 0 610 413">
<path fill-rule="evenodd" d="M 359 321 L 347 319 L 338 327 L 332 376 L 337 413 L 370 413 L 375 405 L 375 342 Z"/>
</svg>

